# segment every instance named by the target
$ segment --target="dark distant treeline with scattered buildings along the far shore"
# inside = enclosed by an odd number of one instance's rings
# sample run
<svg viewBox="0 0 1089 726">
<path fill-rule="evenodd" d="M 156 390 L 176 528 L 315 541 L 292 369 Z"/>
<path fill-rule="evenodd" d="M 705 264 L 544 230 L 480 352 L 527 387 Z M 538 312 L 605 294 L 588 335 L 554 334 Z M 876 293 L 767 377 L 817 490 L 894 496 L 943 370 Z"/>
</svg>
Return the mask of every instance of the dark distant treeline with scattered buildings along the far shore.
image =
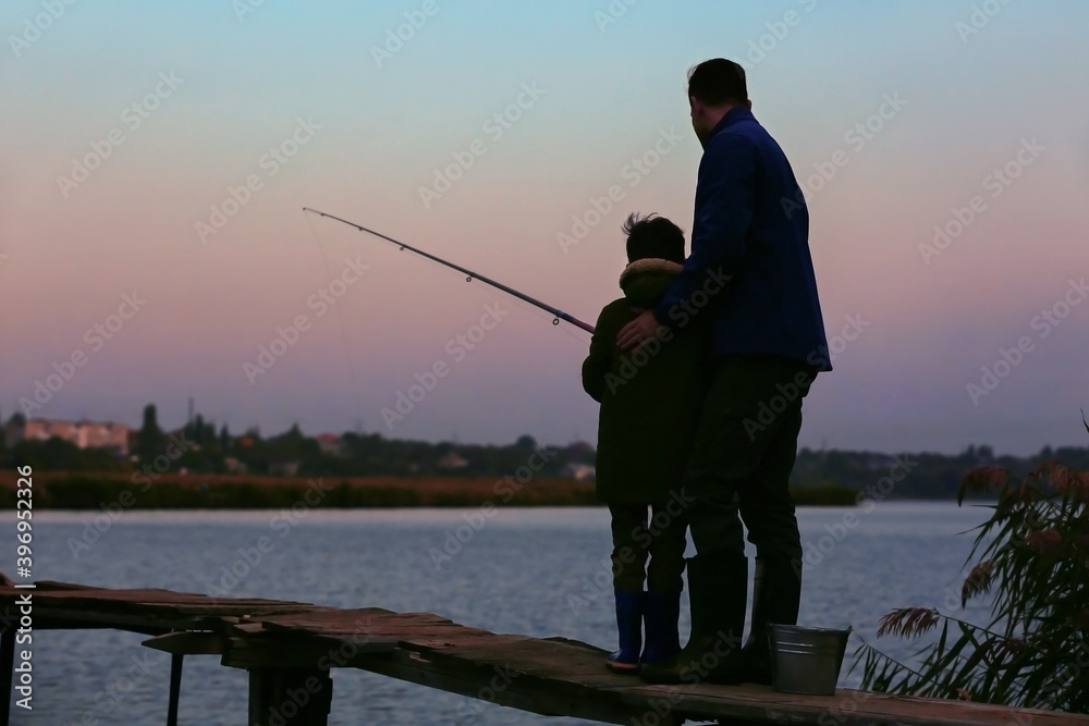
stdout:
<svg viewBox="0 0 1089 726">
<path fill-rule="evenodd" d="M 347 432 L 315 438 L 303 434 L 295 426 L 281 434 L 262 438 L 257 429 L 242 434 L 232 434 L 225 426 L 217 430 L 199 415 L 179 431 L 168 433 L 159 427 L 154 405 L 144 409 L 144 423 L 131 440 L 131 447 L 130 455 L 118 456 L 106 450 L 79 448 L 58 438 L 22 441 L 10 447 L 0 442 L 0 472 L 29 465 L 39 473 L 94 475 L 78 480 L 87 485 L 91 481 L 131 479 L 142 487 L 182 473 L 193 478 L 236 475 L 255 479 L 323 477 L 334 481 L 357 477 L 501 479 L 517 476 L 535 481 L 560 481 L 588 480 L 592 477 L 595 463 L 595 451 L 587 443 L 542 446 L 530 435 L 518 436 L 506 445 L 478 445 L 386 439 L 378 433 Z M 1003 466 L 1015 476 L 1024 476 L 1045 460 L 1087 469 L 1089 448 L 1044 447 L 1028 457 L 995 456 L 990 446 L 969 446 L 955 456 L 803 448 L 798 452 L 791 484 L 802 501 L 812 504 L 843 503 L 855 496 L 953 499 L 964 475 L 975 467 Z M 235 501 L 264 502 L 262 497 L 279 496 L 267 491 L 264 484 L 254 487 L 260 492 L 235 487 L 231 493 L 221 493 L 222 506 L 233 506 L 231 502 Z M 343 494 L 357 503 L 341 506 L 414 505 L 412 497 L 415 494 L 400 488 L 395 490 L 384 494 L 378 491 Z M 197 501 L 201 495 L 182 491 L 168 494 L 163 490 L 156 496 L 164 497 L 163 502 L 182 502 Z"/>
</svg>

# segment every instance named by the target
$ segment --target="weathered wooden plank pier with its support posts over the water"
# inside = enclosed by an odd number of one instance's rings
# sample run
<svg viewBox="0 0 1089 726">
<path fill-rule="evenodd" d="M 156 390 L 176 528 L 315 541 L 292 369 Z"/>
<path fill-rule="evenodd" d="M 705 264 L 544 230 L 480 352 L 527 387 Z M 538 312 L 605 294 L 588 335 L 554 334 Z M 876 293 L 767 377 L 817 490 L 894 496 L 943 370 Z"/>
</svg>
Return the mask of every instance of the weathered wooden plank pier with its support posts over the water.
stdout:
<svg viewBox="0 0 1089 726">
<path fill-rule="evenodd" d="M 170 653 L 163 714 L 169 725 L 178 723 L 185 697 L 183 659 L 218 655 L 223 665 L 249 672 L 250 726 L 325 725 L 332 668 L 362 668 L 513 709 L 611 724 L 1089 726 L 1089 716 L 846 689 L 819 697 L 755 685 L 648 686 L 607 670 L 605 652 L 586 643 L 497 635 L 429 613 L 48 581 L 24 589 L 0 578 L 0 724 L 8 723 L 12 706 L 19 603 L 29 593 L 35 629 L 129 630 L 150 636 L 144 645 Z"/>
</svg>

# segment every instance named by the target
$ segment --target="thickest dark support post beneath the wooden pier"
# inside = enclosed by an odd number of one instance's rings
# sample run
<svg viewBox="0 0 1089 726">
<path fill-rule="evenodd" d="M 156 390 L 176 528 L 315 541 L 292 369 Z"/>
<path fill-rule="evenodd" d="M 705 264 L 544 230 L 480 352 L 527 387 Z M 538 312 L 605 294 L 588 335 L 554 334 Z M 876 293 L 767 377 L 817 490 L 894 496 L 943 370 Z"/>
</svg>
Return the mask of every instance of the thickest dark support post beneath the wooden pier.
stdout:
<svg viewBox="0 0 1089 726">
<path fill-rule="evenodd" d="M 250 668 L 250 726 L 326 726 L 333 679 L 317 668 Z"/>
</svg>

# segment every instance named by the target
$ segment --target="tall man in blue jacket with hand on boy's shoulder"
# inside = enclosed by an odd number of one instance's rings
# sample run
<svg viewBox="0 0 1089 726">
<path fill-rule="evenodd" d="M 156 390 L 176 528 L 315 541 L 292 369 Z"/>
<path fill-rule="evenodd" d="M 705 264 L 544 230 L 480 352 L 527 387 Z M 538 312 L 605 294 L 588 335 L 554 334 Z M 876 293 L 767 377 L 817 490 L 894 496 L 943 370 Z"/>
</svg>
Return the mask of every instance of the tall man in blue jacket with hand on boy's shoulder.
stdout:
<svg viewBox="0 0 1089 726">
<path fill-rule="evenodd" d="M 688 559 L 692 637 L 647 666 L 651 682 L 770 682 L 768 625 L 796 624 L 802 542 L 787 483 L 802 399 L 831 370 L 809 254 L 809 214 L 786 156 L 756 121 L 736 63 L 688 73 L 703 147 L 692 255 L 662 300 L 616 337 L 634 349 L 661 328 L 710 316 L 715 371 L 685 475 L 696 556 Z M 756 546 L 751 632 L 742 521 Z"/>
</svg>

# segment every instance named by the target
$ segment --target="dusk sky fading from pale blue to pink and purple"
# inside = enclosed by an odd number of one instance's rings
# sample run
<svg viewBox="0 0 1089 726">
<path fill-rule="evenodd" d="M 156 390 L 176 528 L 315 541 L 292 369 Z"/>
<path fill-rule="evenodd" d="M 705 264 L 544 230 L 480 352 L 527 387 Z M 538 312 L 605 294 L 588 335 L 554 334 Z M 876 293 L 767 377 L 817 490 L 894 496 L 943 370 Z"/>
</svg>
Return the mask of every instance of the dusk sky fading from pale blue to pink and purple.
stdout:
<svg viewBox="0 0 1089 726">
<path fill-rule="evenodd" d="M 1079 0 L 4 2 L 0 416 L 178 427 L 193 397 L 235 433 L 592 442 L 587 333 L 302 208 L 592 322 L 629 212 L 690 230 L 685 73 L 725 57 L 809 197 L 835 370 L 802 445 L 1086 445 L 1087 27 Z"/>
</svg>

